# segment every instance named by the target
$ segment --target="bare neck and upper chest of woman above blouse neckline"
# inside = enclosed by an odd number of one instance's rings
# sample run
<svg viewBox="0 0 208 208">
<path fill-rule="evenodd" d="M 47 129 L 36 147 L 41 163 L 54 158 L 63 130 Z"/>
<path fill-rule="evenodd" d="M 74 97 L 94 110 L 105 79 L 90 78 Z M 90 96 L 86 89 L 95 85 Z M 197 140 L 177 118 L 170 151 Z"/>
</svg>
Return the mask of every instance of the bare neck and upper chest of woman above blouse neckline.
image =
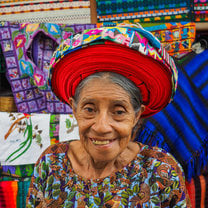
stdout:
<svg viewBox="0 0 208 208">
<path fill-rule="evenodd" d="M 138 154 L 139 146 L 129 143 L 128 147 L 112 161 L 95 161 L 79 141 L 70 142 L 68 157 L 74 172 L 86 179 L 100 179 L 128 165 Z"/>
</svg>

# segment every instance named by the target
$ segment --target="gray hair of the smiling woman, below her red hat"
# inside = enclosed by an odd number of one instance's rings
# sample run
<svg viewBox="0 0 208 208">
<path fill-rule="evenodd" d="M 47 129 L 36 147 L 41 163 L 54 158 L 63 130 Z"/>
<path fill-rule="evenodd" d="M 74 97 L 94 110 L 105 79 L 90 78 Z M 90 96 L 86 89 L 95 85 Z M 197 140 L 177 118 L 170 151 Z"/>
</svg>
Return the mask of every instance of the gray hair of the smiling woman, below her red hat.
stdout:
<svg viewBox="0 0 208 208">
<path fill-rule="evenodd" d="M 75 106 L 79 101 L 81 90 L 85 87 L 85 85 L 94 78 L 101 79 L 104 76 L 110 81 L 112 81 L 113 84 L 117 84 L 120 87 L 122 87 L 129 94 L 130 102 L 133 106 L 135 114 L 138 113 L 142 104 L 142 96 L 139 88 L 128 78 L 114 72 L 97 72 L 83 79 L 77 86 L 75 95 L 73 97 L 75 101 Z"/>
</svg>

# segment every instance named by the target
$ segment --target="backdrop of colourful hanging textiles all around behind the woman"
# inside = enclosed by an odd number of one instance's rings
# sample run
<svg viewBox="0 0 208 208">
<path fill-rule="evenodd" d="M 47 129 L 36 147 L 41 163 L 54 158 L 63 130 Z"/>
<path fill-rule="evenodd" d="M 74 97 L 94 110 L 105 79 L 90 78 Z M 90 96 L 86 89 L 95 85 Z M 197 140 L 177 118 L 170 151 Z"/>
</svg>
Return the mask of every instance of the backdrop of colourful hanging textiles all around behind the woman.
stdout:
<svg viewBox="0 0 208 208">
<path fill-rule="evenodd" d="M 191 49 L 196 35 L 194 21 L 206 21 L 206 15 L 199 18 L 196 14 L 198 9 L 206 14 L 207 2 L 97 1 L 98 24 L 90 23 L 89 1 L 41 2 L 0 4 L 1 71 L 6 71 L 19 112 L 0 112 L 4 129 L 0 152 L 5 153 L 0 158 L 0 207 L 24 207 L 38 156 L 50 144 L 78 138 L 71 109 L 60 103 L 47 85 L 52 52 L 76 32 L 119 22 L 142 23 L 178 60 L 179 90 L 174 102 L 144 121 L 137 140 L 171 152 L 185 170 L 193 207 L 208 206 L 208 52 L 197 55 Z M 143 2 L 143 11 L 137 11 L 138 2 Z M 154 24 L 146 24 L 153 20 Z"/>
</svg>

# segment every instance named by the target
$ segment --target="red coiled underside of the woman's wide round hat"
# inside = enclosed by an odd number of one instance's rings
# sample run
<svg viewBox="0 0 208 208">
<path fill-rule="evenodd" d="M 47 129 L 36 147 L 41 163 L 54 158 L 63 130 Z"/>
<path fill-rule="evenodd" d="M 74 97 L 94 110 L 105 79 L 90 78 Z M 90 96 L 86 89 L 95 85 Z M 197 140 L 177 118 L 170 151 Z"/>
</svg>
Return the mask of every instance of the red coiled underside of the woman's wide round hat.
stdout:
<svg viewBox="0 0 208 208">
<path fill-rule="evenodd" d="M 98 44 L 71 52 L 58 62 L 51 79 L 54 93 L 63 102 L 73 96 L 79 82 L 99 71 L 119 73 L 139 87 L 149 117 L 170 101 L 171 74 L 160 62 L 119 44 Z"/>
</svg>

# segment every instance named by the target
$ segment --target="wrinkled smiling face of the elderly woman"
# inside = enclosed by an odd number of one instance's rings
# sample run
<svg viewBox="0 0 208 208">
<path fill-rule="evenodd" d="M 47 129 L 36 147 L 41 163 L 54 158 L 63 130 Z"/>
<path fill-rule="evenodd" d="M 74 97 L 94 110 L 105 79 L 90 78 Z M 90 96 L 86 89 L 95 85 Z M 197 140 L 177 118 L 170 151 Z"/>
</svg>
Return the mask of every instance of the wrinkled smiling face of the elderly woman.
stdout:
<svg viewBox="0 0 208 208">
<path fill-rule="evenodd" d="M 80 141 L 94 162 L 112 161 L 127 147 L 138 117 L 129 94 L 120 86 L 94 78 L 72 108 Z"/>
</svg>

